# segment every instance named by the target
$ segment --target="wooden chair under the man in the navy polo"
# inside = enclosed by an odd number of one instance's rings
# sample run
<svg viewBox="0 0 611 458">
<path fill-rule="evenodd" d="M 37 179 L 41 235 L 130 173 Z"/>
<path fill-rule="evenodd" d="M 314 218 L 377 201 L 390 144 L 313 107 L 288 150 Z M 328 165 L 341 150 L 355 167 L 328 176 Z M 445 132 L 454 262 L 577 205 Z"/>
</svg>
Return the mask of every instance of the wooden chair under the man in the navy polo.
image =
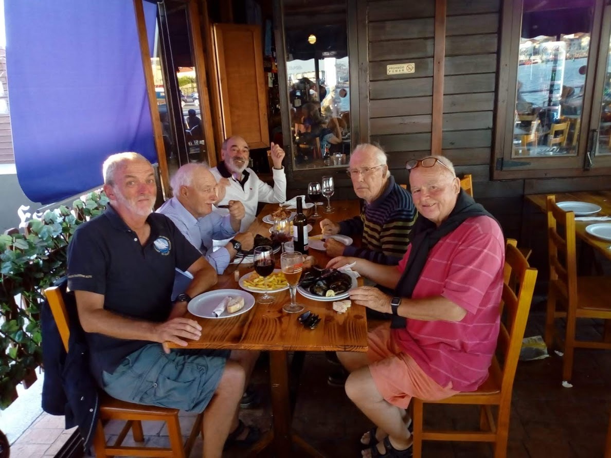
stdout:
<svg viewBox="0 0 611 458">
<path fill-rule="evenodd" d="M 45 289 L 45 295 L 49 301 L 53 318 L 59 329 L 62 342 L 68 351 L 68 340 L 70 338 L 70 327 L 68 325 L 68 313 L 64 302 L 65 294 L 59 286 Z M 100 390 L 101 391 L 101 390 Z M 191 453 L 191 448 L 202 427 L 203 414 L 197 416 L 191 434 L 183 448 L 183 438 L 178 423 L 178 409 L 167 409 L 155 407 L 154 405 L 133 404 L 131 402 L 119 401 L 108 394 L 100 393 L 100 416 L 93 437 L 93 450 L 97 458 L 111 456 L 144 456 L 144 457 L 167 457 L 185 458 Z M 106 445 L 104 435 L 104 420 L 125 420 L 125 426 L 112 445 Z M 122 446 L 125 436 L 132 430 L 134 441 L 144 442 L 142 421 L 165 421 L 170 440 L 170 448 L 161 447 L 131 447 Z"/>
</svg>

